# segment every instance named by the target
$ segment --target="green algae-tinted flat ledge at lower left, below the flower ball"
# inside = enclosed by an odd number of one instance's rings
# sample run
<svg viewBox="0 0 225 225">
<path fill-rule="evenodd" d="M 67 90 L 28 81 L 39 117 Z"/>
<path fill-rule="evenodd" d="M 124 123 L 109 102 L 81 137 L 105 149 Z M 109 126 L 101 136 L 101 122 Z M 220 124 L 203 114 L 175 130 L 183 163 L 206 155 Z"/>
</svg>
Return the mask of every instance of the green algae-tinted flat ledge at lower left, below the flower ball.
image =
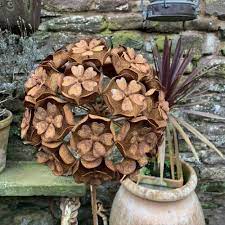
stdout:
<svg viewBox="0 0 225 225">
<path fill-rule="evenodd" d="M 84 196 L 86 187 L 73 177 L 54 176 L 33 161 L 7 162 L 0 173 L 0 196 Z"/>
</svg>

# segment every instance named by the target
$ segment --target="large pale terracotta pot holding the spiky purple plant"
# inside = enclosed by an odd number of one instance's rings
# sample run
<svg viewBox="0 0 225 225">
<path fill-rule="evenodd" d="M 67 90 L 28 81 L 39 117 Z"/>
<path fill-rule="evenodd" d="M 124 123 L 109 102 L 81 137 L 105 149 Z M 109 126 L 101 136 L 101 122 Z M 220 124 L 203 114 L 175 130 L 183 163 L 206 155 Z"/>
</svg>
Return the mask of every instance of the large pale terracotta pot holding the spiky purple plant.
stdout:
<svg viewBox="0 0 225 225">
<path fill-rule="evenodd" d="M 137 185 L 126 179 L 113 201 L 110 225 L 205 225 L 195 194 L 197 176 L 182 163 L 185 185 L 177 189 Z"/>
</svg>

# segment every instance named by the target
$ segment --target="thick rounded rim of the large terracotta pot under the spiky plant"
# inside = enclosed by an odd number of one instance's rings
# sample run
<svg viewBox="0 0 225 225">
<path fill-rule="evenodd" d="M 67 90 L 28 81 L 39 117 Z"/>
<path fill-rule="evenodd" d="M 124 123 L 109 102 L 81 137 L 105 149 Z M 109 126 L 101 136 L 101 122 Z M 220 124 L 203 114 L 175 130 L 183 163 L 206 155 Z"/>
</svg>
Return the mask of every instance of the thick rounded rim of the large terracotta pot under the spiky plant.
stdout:
<svg viewBox="0 0 225 225">
<path fill-rule="evenodd" d="M 186 198 L 190 195 L 197 186 L 197 175 L 194 169 L 184 161 L 182 161 L 182 168 L 186 183 L 181 188 L 176 189 L 151 189 L 136 184 L 129 178 L 125 179 L 122 183 L 129 192 L 136 195 L 137 197 L 147 199 L 156 202 L 173 202 Z"/>
</svg>

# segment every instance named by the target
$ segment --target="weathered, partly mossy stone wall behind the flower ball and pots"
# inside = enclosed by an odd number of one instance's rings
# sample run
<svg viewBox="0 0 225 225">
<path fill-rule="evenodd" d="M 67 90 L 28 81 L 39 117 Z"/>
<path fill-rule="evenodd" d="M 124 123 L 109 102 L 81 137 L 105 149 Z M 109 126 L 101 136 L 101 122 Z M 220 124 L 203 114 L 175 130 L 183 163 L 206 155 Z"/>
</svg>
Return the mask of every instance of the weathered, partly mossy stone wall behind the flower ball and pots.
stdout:
<svg viewBox="0 0 225 225">
<path fill-rule="evenodd" d="M 145 4 L 147 3 L 148 1 L 145 1 Z M 27 77 L 26 71 L 30 70 L 34 64 L 64 44 L 89 35 L 105 37 L 108 44 L 113 47 L 119 44 L 133 47 L 152 62 L 151 51 L 154 44 L 157 44 L 162 50 L 165 35 L 168 35 L 174 43 L 181 36 L 183 46 L 194 49 L 194 59 L 187 70 L 188 76 L 194 65 L 203 59 L 211 59 L 211 63 L 225 62 L 225 2 L 223 0 L 201 0 L 200 8 L 201 13 L 194 21 L 184 23 L 146 22 L 142 18 L 140 1 L 136 0 L 44 0 L 42 23 L 39 30 L 32 37 L 22 39 L 21 46 L 16 45 L 18 52 L 15 55 L 12 54 L 15 49 L 12 51 L 7 49 L 9 51 L 7 60 L 3 59 L 4 51 L 0 52 L 1 85 L 8 85 L 15 96 L 14 100 L 7 103 L 7 107 L 15 115 L 11 129 L 8 159 L 31 160 L 34 157 L 35 150 L 22 144 L 18 129 L 23 112 L 22 84 Z M 12 43 L 14 43 L 13 41 L 18 43 L 18 40 L 13 39 Z M 15 57 L 17 57 L 16 60 Z M 21 69 L 21 65 L 24 65 L 24 68 Z M 190 108 L 225 117 L 225 67 L 208 73 L 201 80 L 201 83 L 206 83 L 207 95 L 202 99 L 192 99 L 192 103 L 196 103 L 197 106 Z M 199 103 L 199 101 L 201 102 Z M 190 116 L 182 111 L 181 113 L 225 153 L 224 121 Z M 181 141 L 182 156 L 195 165 L 198 172 L 198 194 L 204 208 L 207 224 L 222 225 L 225 223 L 225 163 L 212 150 L 194 138 L 193 140 L 202 163 L 196 164 L 194 162 L 192 154 Z M 111 198 L 105 199 L 104 196 L 101 196 L 109 206 L 114 193 L 113 188 L 107 185 L 102 189 L 102 192 L 110 193 Z M 14 200 L 12 199 L 12 201 Z M 20 199 L 20 201 L 22 200 Z M 24 201 L 22 201 L 22 205 Z M 81 215 L 83 218 L 87 211 L 85 206 L 88 204 L 88 198 L 83 199 L 84 207 Z M 0 204 L 1 207 L 8 208 L 10 203 L 7 201 L 5 205 Z M 39 213 L 37 211 L 35 213 L 39 217 L 41 213 L 46 212 L 39 204 L 36 207 Z M 55 224 L 55 220 L 48 220 L 48 217 L 47 213 L 47 222 L 43 222 L 43 224 Z M 15 224 L 22 224 L 22 222 Z M 84 222 L 83 225 L 87 225 L 87 222 Z"/>
</svg>

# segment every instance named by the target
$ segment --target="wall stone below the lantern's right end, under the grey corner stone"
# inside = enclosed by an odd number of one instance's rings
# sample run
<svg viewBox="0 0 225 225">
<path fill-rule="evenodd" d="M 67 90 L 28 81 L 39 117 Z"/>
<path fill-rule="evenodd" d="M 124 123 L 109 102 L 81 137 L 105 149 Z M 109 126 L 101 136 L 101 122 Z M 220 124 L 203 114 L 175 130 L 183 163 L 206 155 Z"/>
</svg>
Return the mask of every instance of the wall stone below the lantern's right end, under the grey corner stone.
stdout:
<svg viewBox="0 0 225 225">
<path fill-rule="evenodd" d="M 199 16 L 195 20 L 186 21 L 184 23 L 185 30 L 198 30 L 198 31 L 218 31 L 220 21 L 215 17 L 202 17 Z"/>
</svg>

